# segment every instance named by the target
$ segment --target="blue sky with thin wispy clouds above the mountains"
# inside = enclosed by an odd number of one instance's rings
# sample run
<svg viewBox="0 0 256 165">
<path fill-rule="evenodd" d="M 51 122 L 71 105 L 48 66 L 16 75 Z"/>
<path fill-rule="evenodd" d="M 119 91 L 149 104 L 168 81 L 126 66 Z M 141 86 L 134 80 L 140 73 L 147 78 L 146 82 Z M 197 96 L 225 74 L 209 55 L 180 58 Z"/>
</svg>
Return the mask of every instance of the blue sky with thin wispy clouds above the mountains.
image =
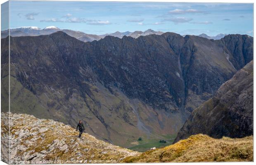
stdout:
<svg viewBox="0 0 256 165">
<path fill-rule="evenodd" d="M 10 1 L 10 28 L 21 26 L 56 26 L 98 35 L 152 29 L 181 35 L 252 36 L 253 4 Z"/>
</svg>

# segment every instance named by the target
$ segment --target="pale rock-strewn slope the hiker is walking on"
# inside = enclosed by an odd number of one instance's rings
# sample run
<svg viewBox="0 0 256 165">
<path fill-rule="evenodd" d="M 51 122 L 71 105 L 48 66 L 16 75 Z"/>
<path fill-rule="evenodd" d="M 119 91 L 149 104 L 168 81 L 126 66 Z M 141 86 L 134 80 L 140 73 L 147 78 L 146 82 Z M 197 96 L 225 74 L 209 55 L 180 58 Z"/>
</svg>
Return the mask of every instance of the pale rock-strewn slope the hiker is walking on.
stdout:
<svg viewBox="0 0 256 165">
<path fill-rule="evenodd" d="M 80 139 L 70 125 L 27 114 L 1 113 L 1 136 L 1 159 L 10 164 L 117 163 L 139 154 L 87 133 Z"/>
</svg>

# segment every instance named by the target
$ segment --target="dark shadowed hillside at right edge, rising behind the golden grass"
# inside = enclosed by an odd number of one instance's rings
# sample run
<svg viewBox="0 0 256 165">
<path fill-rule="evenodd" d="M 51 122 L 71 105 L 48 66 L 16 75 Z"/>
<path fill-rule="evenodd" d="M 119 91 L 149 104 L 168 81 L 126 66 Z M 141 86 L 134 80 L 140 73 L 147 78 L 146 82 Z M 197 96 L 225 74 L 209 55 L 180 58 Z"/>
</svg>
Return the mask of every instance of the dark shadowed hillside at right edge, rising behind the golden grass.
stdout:
<svg viewBox="0 0 256 165">
<path fill-rule="evenodd" d="M 192 112 L 175 142 L 199 133 L 214 138 L 241 138 L 253 134 L 253 61 Z"/>
</svg>

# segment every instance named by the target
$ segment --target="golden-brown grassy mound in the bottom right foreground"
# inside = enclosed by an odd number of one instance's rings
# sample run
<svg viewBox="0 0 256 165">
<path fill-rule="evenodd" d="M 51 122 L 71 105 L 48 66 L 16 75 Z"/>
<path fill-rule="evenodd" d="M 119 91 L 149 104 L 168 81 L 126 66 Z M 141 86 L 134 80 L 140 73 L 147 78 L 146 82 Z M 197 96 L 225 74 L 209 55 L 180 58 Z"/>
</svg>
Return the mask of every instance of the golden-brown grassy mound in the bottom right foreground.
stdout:
<svg viewBox="0 0 256 165">
<path fill-rule="evenodd" d="M 207 135 L 197 134 L 165 148 L 147 151 L 123 160 L 124 163 L 213 161 L 253 161 L 253 136 L 241 139 L 213 139 Z"/>
</svg>

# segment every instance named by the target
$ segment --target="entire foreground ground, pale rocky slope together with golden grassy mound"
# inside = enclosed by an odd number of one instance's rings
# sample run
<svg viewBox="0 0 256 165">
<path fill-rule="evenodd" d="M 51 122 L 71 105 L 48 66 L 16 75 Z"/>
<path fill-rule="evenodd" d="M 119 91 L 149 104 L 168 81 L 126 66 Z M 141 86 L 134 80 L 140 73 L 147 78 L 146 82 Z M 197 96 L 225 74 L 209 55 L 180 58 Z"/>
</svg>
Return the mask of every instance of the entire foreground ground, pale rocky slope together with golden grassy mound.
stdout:
<svg viewBox="0 0 256 165">
<path fill-rule="evenodd" d="M 9 164 L 253 161 L 253 136 L 213 139 L 197 134 L 139 153 L 87 133 L 79 139 L 78 132 L 69 125 L 27 114 L 1 113 L 1 128 L 1 159 Z"/>
</svg>

